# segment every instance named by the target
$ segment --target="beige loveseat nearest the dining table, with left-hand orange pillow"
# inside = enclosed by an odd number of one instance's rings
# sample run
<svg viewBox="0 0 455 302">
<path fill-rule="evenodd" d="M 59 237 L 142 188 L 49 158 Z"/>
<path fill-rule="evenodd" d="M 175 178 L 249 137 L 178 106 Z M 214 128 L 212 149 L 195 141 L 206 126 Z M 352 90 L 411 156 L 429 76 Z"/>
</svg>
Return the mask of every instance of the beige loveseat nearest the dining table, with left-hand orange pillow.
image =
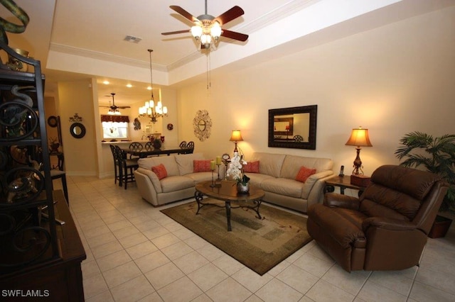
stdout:
<svg viewBox="0 0 455 302">
<path fill-rule="evenodd" d="M 200 181 L 211 180 L 211 172 L 193 172 L 194 160 L 204 160 L 202 153 L 146 157 L 138 160 L 139 168 L 134 171 L 139 194 L 154 206 L 161 206 L 172 201 L 191 198 L 194 187 Z M 151 167 L 163 164 L 167 177 L 159 179 Z M 224 166 L 221 165 L 220 177 L 224 177 Z M 215 178 L 218 176 L 214 175 Z"/>
</svg>

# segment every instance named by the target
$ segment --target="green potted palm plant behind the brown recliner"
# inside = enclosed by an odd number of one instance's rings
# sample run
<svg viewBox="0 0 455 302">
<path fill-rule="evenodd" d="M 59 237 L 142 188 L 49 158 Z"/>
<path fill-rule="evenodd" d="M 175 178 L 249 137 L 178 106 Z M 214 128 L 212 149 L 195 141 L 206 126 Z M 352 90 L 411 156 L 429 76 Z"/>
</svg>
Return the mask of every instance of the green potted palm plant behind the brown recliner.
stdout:
<svg viewBox="0 0 455 302">
<path fill-rule="evenodd" d="M 449 183 L 440 212 L 455 214 L 455 135 L 446 134 L 436 138 L 421 132 L 407 133 L 400 140 L 402 146 L 396 151 L 398 159 L 405 161 L 400 165 L 405 167 L 422 166 L 427 171 L 438 174 Z M 444 237 L 451 225 L 451 219 L 437 216 L 429 237 Z M 441 225 L 444 225 L 445 230 Z"/>
</svg>

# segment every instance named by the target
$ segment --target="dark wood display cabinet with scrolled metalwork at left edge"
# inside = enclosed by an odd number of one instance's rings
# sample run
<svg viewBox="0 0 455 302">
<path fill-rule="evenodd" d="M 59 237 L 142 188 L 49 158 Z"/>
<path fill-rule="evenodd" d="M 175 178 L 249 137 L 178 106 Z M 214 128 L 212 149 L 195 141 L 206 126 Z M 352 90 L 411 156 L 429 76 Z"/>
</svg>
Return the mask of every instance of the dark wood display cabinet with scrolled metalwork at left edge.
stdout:
<svg viewBox="0 0 455 302">
<path fill-rule="evenodd" d="M 41 63 L 0 48 L 0 300 L 83 301 L 85 251 L 52 190 Z"/>
</svg>

